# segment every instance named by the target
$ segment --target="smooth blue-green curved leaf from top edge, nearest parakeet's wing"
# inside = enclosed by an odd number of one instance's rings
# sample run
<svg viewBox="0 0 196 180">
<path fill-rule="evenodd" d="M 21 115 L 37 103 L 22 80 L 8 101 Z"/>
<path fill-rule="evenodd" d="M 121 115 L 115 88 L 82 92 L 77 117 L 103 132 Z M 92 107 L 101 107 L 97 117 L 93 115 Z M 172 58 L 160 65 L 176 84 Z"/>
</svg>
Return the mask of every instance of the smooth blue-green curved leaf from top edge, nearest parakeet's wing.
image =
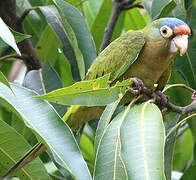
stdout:
<svg viewBox="0 0 196 180">
<path fill-rule="evenodd" d="M 89 69 L 92 61 L 96 58 L 96 48 L 90 30 L 82 14 L 72 5 L 63 0 L 53 0 L 61 9 L 64 17 L 71 25 L 78 42 L 78 47 L 85 61 L 85 72 Z M 88 51 L 87 51 L 88 49 Z"/>
</svg>

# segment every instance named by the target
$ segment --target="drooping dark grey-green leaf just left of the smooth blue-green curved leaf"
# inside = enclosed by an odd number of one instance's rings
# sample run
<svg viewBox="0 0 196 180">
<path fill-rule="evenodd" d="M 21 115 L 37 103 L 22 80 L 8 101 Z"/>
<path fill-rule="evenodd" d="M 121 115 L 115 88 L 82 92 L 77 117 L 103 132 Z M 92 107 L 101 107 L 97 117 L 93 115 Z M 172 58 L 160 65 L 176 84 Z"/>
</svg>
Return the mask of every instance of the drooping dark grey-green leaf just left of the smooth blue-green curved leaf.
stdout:
<svg viewBox="0 0 196 180">
<path fill-rule="evenodd" d="M 84 72 L 81 72 L 81 74 L 79 72 L 78 66 L 80 66 L 80 64 L 78 64 L 79 60 L 77 60 L 77 57 L 76 57 L 76 54 L 78 54 L 79 52 L 78 52 L 77 47 L 75 47 L 77 49 L 77 53 L 75 53 L 75 50 L 73 47 L 73 41 L 74 42 L 76 41 L 75 35 L 72 32 L 73 30 L 71 30 L 70 27 L 68 27 L 69 24 L 67 24 L 67 27 L 69 28 L 68 29 L 69 33 L 68 33 L 67 29 L 65 29 L 64 27 L 64 22 L 55 6 L 43 6 L 43 7 L 40 7 L 40 9 L 42 13 L 45 15 L 48 23 L 54 29 L 54 31 L 56 32 L 56 34 L 58 35 L 59 39 L 62 42 L 63 52 L 65 54 L 65 57 L 67 58 L 67 60 L 69 61 L 71 65 L 72 76 L 74 80 L 79 81 L 81 79 L 80 75 L 84 74 Z M 71 33 L 71 36 L 69 36 L 70 33 Z M 80 54 L 78 55 L 80 56 Z"/>
</svg>

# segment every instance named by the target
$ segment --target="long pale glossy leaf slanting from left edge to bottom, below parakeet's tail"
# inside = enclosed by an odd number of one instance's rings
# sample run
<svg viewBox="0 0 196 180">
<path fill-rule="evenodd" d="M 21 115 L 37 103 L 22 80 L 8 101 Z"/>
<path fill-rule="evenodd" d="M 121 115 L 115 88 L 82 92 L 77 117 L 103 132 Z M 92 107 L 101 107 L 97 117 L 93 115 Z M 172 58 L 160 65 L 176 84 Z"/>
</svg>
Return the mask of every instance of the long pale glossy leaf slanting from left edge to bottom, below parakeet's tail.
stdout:
<svg viewBox="0 0 196 180">
<path fill-rule="evenodd" d="M 37 94 L 31 90 L 14 84 L 11 87 L 15 95 L 0 83 L 1 101 L 3 99 L 3 102 L 7 102 L 7 105 L 25 121 L 73 178 L 91 179 L 71 130 L 52 106 L 46 101 L 32 98 Z"/>
</svg>

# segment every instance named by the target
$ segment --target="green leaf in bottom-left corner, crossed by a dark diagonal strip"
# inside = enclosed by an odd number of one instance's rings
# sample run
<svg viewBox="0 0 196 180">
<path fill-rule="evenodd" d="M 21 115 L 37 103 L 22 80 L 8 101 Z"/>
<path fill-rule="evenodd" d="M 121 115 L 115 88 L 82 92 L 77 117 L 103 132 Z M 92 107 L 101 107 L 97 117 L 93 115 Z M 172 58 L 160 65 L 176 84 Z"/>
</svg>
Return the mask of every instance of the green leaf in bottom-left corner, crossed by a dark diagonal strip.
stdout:
<svg viewBox="0 0 196 180">
<path fill-rule="evenodd" d="M 28 142 L 12 127 L 0 120 L 0 176 L 11 168 L 25 152 L 31 149 Z M 17 142 L 17 143 L 16 143 Z M 42 175 L 40 177 L 40 174 Z M 29 163 L 17 172 L 12 173 L 21 179 L 50 179 L 40 159 Z"/>
</svg>

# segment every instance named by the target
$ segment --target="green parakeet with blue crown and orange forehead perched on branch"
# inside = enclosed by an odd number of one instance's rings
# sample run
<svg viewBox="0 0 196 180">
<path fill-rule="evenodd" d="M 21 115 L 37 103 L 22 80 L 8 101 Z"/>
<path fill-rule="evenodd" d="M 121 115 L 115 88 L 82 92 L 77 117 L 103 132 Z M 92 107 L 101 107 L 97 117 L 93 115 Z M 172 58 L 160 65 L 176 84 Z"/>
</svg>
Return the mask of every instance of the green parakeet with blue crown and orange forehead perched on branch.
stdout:
<svg viewBox="0 0 196 180">
<path fill-rule="evenodd" d="M 137 77 L 153 91 L 162 90 L 170 78 L 177 52 L 183 55 L 187 50 L 190 33 L 188 25 L 176 18 L 158 19 L 143 30 L 127 32 L 100 53 L 85 79 L 111 73 L 113 83 Z M 131 94 L 123 99 L 124 103 L 129 102 Z M 72 106 L 64 119 L 77 128 L 77 124 L 99 117 L 103 110 L 104 107 Z"/>
</svg>

